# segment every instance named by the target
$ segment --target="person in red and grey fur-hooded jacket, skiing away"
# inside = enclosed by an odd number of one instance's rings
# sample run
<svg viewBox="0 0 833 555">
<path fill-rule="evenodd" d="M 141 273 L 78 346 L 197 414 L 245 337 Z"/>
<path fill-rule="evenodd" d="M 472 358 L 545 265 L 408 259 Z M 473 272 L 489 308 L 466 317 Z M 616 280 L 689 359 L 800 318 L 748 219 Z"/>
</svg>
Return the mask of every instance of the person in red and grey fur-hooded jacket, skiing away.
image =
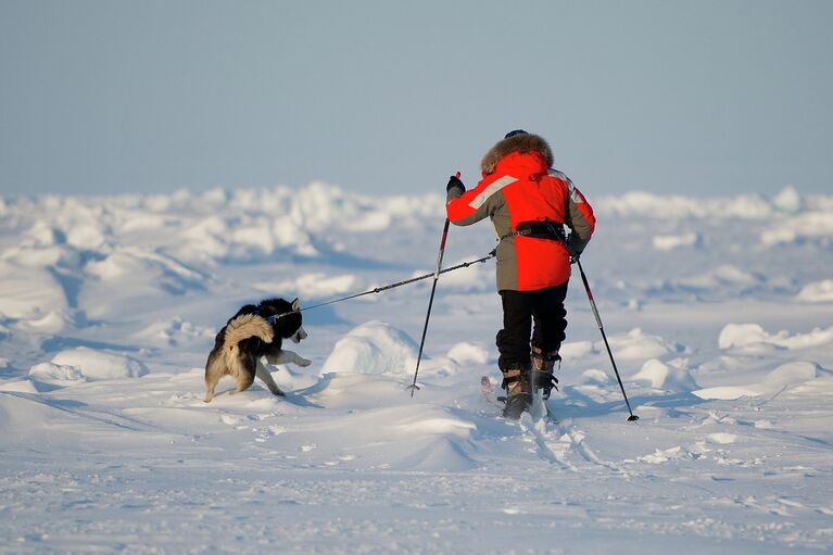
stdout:
<svg viewBox="0 0 833 555">
<path fill-rule="evenodd" d="M 546 400 L 558 381 L 553 370 L 567 328 L 570 255 L 581 254 L 595 229 L 584 195 L 552 165 L 546 141 L 518 129 L 485 153 L 477 187 L 467 191 L 455 176 L 446 187 L 453 224 L 468 226 L 488 216 L 497 234 L 503 304 L 497 365 L 507 396 L 504 415 L 513 419 L 529 409 L 535 389 Z"/>
</svg>

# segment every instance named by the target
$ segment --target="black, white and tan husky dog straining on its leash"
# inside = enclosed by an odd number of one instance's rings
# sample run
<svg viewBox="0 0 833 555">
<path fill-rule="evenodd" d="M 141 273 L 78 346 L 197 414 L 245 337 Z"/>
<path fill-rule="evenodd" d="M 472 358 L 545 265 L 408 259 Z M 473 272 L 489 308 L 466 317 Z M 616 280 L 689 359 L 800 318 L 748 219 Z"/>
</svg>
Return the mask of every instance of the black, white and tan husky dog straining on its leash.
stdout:
<svg viewBox="0 0 833 555">
<path fill-rule="evenodd" d="M 245 391 L 257 376 L 276 395 L 283 395 L 269 371 L 263 365 L 264 356 L 269 364 L 292 363 L 310 366 L 311 361 L 292 351 L 285 351 L 285 339 L 300 343 L 306 338 L 301 327 L 300 303 L 283 299 L 265 299 L 257 305 L 247 304 L 219 330 L 214 349 L 205 363 L 205 402 L 214 399 L 214 388 L 223 376 L 237 381 L 237 392 Z"/>
</svg>

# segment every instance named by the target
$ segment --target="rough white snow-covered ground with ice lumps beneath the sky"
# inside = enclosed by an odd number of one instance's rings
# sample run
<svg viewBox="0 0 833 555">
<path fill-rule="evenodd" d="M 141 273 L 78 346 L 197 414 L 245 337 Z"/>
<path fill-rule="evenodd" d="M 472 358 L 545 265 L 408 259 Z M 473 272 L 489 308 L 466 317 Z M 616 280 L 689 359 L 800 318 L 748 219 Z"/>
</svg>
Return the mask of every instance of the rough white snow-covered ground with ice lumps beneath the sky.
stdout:
<svg viewBox="0 0 833 555">
<path fill-rule="evenodd" d="M 430 273 L 439 194 L 1 199 L 0 552 L 833 551 L 833 197 L 585 192 L 635 424 L 580 280 L 557 420 L 497 417 L 493 262 L 440 278 L 413 399 L 430 281 L 304 312 L 286 398 L 202 402 L 241 304 Z"/>
</svg>

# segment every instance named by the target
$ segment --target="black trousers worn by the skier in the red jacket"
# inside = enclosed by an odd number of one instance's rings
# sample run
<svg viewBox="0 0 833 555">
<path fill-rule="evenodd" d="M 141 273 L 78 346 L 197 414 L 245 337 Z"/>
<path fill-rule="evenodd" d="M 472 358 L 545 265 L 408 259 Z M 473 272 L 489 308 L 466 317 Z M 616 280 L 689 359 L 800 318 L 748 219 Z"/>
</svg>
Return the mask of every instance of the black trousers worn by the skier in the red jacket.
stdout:
<svg viewBox="0 0 833 555">
<path fill-rule="evenodd" d="M 530 332 L 532 346 L 544 352 L 558 351 L 567 329 L 567 281 L 538 291 L 501 291 L 503 329 L 497 332 L 497 366 L 502 370 L 530 364 Z M 534 330 L 532 321 L 534 320 Z"/>
</svg>

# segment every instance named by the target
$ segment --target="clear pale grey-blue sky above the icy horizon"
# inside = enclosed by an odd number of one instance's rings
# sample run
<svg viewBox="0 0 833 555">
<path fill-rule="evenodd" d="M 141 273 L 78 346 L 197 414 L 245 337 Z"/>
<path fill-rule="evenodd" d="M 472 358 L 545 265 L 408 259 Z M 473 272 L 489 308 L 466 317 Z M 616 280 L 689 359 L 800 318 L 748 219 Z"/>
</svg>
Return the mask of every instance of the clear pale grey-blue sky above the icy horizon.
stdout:
<svg viewBox="0 0 833 555">
<path fill-rule="evenodd" d="M 833 2 L 0 0 L 0 192 L 833 192 Z"/>
</svg>

